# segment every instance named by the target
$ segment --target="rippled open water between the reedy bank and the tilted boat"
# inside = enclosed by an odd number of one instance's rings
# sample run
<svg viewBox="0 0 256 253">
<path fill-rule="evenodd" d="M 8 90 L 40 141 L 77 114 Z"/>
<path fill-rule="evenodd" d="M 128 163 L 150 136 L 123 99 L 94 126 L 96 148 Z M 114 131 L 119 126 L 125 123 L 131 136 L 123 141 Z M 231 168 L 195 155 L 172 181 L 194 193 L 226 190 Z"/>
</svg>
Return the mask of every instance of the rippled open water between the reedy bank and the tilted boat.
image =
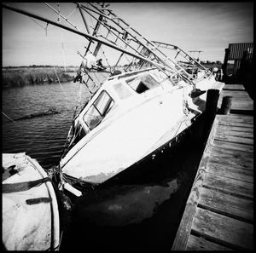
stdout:
<svg viewBox="0 0 256 253">
<path fill-rule="evenodd" d="M 44 169 L 57 164 L 75 106 L 80 101 L 80 91 L 83 104 L 90 93 L 80 83 L 61 83 L 61 86 L 59 83 L 38 84 L 3 89 L 2 110 L 9 118 L 20 118 L 50 108 L 61 112 L 16 122 L 2 115 L 3 152 L 26 152 L 36 158 Z"/>
</svg>

